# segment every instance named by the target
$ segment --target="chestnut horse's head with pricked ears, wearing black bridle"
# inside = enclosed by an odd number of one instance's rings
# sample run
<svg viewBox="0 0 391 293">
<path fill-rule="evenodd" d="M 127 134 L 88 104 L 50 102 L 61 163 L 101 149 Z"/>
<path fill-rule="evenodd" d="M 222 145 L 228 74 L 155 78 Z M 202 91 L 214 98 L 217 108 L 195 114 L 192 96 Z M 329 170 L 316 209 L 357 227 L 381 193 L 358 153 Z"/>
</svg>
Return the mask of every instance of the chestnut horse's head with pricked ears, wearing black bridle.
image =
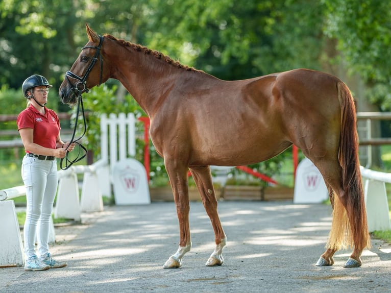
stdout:
<svg viewBox="0 0 391 293">
<path fill-rule="evenodd" d="M 79 95 L 108 79 L 108 75 L 103 71 L 103 36 L 97 35 L 87 23 L 86 30 L 89 41 L 82 48 L 74 65 L 66 72 L 59 89 L 61 100 L 65 104 L 77 103 Z"/>
</svg>

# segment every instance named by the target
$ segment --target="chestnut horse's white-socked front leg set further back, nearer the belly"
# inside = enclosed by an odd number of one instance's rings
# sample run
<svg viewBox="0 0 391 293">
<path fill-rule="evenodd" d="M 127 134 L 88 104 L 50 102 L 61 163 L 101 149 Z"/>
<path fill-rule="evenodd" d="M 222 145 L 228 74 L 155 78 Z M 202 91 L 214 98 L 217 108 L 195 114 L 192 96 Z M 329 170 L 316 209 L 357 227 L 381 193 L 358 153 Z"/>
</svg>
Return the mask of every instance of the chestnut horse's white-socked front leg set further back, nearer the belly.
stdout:
<svg viewBox="0 0 391 293">
<path fill-rule="evenodd" d="M 194 178 L 195 184 L 201 194 L 202 203 L 204 204 L 206 213 L 212 222 L 214 230 L 214 240 L 216 247 L 210 255 L 206 265 L 222 265 L 223 264 L 223 248 L 226 245 L 227 237 L 223 231 L 220 218 L 217 213 L 217 200 L 213 188 L 212 177 L 209 166 L 191 167 L 190 172 Z"/>
</svg>

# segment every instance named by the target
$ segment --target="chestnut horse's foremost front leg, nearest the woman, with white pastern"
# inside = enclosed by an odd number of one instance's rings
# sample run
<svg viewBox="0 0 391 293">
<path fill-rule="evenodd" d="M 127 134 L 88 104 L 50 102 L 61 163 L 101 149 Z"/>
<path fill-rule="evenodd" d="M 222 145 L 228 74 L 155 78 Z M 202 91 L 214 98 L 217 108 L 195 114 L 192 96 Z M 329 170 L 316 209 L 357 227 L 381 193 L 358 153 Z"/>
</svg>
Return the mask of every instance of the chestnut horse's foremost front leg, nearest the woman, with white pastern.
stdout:
<svg viewBox="0 0 391 293">
<path fill-rule="evenodd" d="M 182 265 L 183 256 L 191 249 L 189 227 L 189 193 L 187 185 L 187 167 L 178 165 L 175 160 L 164 160 L 169 181 L 174 193 L 174 201 L 179 221 L 179 248 L 164 263 L 163 268 L 178 268 Z"/>
</svg>

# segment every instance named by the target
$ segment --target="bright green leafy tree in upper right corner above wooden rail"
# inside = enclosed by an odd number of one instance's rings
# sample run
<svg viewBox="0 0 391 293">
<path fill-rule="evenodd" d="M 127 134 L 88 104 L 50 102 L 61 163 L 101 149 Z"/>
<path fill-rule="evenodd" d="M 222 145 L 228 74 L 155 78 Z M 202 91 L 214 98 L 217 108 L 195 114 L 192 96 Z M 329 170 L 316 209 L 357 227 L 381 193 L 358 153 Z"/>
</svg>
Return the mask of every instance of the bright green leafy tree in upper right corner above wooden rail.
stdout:
<svg viewBox="0 0 391 293">
<path fill-rule="evenodd" d="M 337 39 L 348 68 L 360 72 L 369 99 L 391 110 L 391 2 L 381 0 L 323 0 L 325 32 Z"/>
</svg>

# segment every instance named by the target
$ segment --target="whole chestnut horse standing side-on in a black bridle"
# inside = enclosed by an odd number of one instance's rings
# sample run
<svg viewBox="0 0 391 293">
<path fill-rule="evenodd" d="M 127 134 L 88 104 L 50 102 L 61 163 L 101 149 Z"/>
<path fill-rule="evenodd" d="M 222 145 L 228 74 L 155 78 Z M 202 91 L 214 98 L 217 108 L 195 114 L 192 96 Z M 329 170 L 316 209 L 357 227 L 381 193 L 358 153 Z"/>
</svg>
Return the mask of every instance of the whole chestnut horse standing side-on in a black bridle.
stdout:
<svg viewBox="0 0 391 293">
<path fill-rule="evenodd" d="M 86 24 L 89 41 L 66 72 L 59 94 L 75 104 L 109 78 L 119 80 L 148 114 L 150 135 L 164 158 L 179 219 L 177 252 L 164 268 L 177 268 L 190 251 L 187 171 L 201 194 L 215 235 L 208 266 L 223 263 L 222 228 L 210 165 L 247 165 L 270 159 L 292 144 L 320 170 L 333 205 L 326 251 L 316 265 L 352 247 L 345 267 L 361 265 L 370 247 L 358 159 L 355 106 L 334 76 L 295 69 L 247 80 L 223 81 L 138 44 L 100 36 Z"/>
</svg>

